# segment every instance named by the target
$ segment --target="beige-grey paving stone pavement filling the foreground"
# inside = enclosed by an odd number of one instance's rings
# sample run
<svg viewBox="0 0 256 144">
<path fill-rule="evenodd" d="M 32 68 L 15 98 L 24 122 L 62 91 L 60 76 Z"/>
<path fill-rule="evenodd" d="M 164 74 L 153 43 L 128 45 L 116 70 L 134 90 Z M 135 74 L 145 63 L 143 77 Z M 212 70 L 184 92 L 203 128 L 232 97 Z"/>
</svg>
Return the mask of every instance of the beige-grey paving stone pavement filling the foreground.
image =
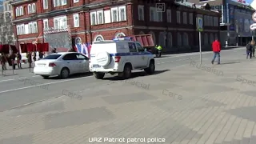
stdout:
<svg viewBox="0 0 256 144">
<path fill-rule="evenodd" d="M 255 73 L 245 60 L 113 81 L 2 112 L 0 143 L 255 144 Z"/>
</svg>

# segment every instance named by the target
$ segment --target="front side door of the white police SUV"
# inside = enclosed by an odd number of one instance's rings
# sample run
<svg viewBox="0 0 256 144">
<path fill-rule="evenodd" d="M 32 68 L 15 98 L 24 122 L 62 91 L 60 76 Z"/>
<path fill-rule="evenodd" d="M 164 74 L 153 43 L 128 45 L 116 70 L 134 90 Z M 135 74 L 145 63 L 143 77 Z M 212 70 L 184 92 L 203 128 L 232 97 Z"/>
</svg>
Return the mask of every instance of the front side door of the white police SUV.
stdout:
<svg viewBox="0 0 256 144">
<path fill-rule="evenodd" d="M 144 50 L 144 48 L 136 42 L 136 47 L 138 50 L 138 61 L 140 64 L 140 67 L 146 67 L 148 62 L 147 52 Z"/>
</svg>

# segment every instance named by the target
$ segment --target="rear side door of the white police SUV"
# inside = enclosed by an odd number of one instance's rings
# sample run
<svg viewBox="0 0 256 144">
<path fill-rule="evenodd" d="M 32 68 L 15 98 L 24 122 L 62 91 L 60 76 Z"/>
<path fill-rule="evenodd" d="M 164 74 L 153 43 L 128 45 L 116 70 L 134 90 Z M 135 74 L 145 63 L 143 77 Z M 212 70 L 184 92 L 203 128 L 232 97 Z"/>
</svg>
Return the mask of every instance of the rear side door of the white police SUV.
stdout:
<svg viewBox="0 0 256 144">
<path fill-rule="evenodd" d="M 140 67 L 140 62 L 138 61 L 139 55 L 138 55 L 138 50 L 136 48 L 136 45 L 134 42 L 128 42 L 128 46 L 129 46 L 129 61 L 132 63 L 132 65 L 134 66 L 134 68 L 138 68 Z"/>
</svg>

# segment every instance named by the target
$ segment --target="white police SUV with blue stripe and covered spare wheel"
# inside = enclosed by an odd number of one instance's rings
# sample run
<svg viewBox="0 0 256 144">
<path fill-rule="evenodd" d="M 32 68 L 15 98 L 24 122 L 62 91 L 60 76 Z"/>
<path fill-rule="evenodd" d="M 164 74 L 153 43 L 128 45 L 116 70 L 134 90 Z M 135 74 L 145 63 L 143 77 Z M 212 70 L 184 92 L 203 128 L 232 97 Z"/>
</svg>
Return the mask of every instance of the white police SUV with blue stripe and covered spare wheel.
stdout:
<svg viewBox="0 0 256 144">
<path fill-rule="evenodd" d="M 138 42 L 116 38 L 93 42 L 90 50 L 90 71 L 95 78 L 102 79 L 106 73 L 130 78 L 131 70 L 145 70 L 154 74 L 154 55 L 147 52 Z"/>
</svg>

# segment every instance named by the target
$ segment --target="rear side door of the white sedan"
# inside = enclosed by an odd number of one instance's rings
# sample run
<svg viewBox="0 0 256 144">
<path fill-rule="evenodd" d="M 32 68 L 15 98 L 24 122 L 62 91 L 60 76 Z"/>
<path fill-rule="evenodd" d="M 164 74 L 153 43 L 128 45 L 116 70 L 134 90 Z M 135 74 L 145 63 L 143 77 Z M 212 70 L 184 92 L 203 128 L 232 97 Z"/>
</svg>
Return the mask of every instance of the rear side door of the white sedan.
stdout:
<svg viewBox="0 0 256 144">
<path fill-rule="evenodd" d="M 78 72 L 78 58 L 75 53 L 66 54 L 63 58 L 63 67 L 66 66 L 70 69 L 70 74 Z"/>
</svg>

